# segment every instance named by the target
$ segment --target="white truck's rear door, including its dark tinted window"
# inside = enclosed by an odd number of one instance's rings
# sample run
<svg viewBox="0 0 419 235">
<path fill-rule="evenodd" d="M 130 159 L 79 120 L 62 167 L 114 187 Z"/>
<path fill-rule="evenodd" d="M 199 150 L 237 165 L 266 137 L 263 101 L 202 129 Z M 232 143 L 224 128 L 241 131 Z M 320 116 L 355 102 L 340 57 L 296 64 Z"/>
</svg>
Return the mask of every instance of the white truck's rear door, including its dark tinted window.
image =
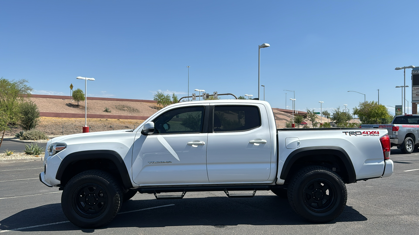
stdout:
<svg viewBox="0 0 419 235">
<path fill-rule="evenodd" d="M 268 180 L 272 143 L 264 105 L 216 103 L 209 115 L 209 182 Z"/>
</svg>

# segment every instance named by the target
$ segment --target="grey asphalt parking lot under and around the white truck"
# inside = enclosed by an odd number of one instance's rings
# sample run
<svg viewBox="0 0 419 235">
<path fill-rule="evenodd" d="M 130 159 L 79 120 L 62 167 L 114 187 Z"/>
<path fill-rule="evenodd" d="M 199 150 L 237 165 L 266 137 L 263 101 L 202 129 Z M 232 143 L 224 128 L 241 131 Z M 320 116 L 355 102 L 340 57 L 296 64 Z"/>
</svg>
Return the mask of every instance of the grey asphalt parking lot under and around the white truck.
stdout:
<svg viewBox="0 0 419 235">
<path fill-rule="evenodd" d="M 417 234 L 419 151 L 406 155 L 392 149 L 391 159 L 393 175 L 348 184 L 347 207 L 326 224 L 306 222 L 270 191 L 237 199 L 224 192 L 191 192 L 174 200 L 136 194 L 111 223 L 94 230 L 68 222 L 61 191 L 39 181 L 42 161 L 0 163 L 0 233 Z"/>
</svg>

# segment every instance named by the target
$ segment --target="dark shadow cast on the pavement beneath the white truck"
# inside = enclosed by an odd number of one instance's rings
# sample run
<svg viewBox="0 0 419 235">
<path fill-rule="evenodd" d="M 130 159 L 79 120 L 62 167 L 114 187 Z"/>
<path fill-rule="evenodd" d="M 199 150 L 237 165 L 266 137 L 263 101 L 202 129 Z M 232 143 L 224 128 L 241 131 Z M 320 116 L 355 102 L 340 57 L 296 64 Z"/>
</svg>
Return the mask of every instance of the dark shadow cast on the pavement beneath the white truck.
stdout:
<svg viewBox="0 0 419 235">
<path fill-rule="evenodd" d="M 255 196 L 253 198 L 204 197 L 175 200 L 140 199 L 129 200 L 122 205 L 120 212 L 159 207 L 138 212 L 116 215 L 104 228 L 116 227 L 168 227 L 206 225 L 222 228 L 235 225 L 311 225 L 292 211 L 287 199 L 277 196 Z M 367 218 L 352 207 L 346 206 L 342 214 L 329 222 L 365 221 Z M 71 231 L 80 229 L 68 221 L 62 212 L 61 204 L 47 204 L 25 209 L 0 221 L 1 230 L 18 231 Z M 34 228 L 36 225 L 63 222 Z"/>
</svg>

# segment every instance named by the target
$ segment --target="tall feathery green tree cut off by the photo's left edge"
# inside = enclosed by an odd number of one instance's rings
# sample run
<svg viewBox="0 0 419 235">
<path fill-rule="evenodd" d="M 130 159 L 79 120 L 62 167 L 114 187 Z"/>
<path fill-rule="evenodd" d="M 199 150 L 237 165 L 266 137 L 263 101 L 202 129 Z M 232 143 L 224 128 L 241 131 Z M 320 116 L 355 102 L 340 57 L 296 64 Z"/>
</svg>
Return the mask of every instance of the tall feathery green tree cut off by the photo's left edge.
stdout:
<svg viewBox="0 0 419 235">
<path fill-rule="evenodd" d="M 31 95 L 33 89 L 26 84 L 27 82 L 26 79 L 10 81 L 0 78 L 0 110 L 2 110 L 0 123 L 5 123 L 0 125 L 0 131 L 3 130 L 0 146 L 8 125 L 14 125 L 18 121 L 19 104 Z"/>
</svg>

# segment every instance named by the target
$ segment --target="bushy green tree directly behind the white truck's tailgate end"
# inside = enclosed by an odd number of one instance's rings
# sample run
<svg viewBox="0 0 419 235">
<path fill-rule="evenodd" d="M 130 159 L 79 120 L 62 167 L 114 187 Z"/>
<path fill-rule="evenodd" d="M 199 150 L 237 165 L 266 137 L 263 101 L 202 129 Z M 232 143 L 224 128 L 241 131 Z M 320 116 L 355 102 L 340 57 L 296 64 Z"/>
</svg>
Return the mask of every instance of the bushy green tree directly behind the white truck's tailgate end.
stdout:
<svg viewBox="0 0 419 235">
<path fill-rule="evenodd" d="M 358 107 L 354 107 L 354 115 L 360 117 L 362 124 L 388 124 L 391 115 L 384 105 L 378 102 L 360 102 Z"/>
</svg>

